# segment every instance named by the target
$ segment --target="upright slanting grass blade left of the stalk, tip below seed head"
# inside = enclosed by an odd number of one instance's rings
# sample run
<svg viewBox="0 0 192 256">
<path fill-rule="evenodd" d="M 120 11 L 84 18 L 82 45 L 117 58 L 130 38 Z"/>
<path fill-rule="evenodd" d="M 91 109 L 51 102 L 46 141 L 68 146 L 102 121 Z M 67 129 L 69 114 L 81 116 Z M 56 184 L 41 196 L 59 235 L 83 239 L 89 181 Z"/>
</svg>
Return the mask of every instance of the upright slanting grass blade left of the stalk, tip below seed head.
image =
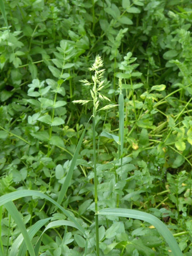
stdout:
<svg viewBox="0 0 192 256">
<path fill-rule="evenodd" d="M 90 119 L 91 119 L 91 117 L 90 117 Z M 90 119 L 89 119 L 89 121 L 90 121 Z M 87 125 L 88 125 L 89 121 L 87 122 Z M 65 196 L 65 193 L 67 192 L 68 187 L 70 186 L 71 179 L 72 179 L 72 176 L 73 176 L 73 170 L 74 170 L 75 165 L 76 165 L 76 160 L 78 158 L 79 150 L 81 148 L 81 144 L 82 144 L 82 141 L 83 141 L 83 138 L 84 138 L 85 131 L 87 129 L 87 125 L 85 126 L 84 131 L 81 134 L 81 138 L 79 140 L 79 143 L 77 144 L 75 153 L 73 155 L 73 159 L 71 161 L 69 171 L 67 172 L 67 176 L 66 176 L 65 181 L 64 181 L 64 183 L 61 187 L 61 190 L 59 192 L 57 203 L 60 204 L 60 205 L 61 205 L 61 203 L 64 199 L 64 196 Z"/>
</svg>

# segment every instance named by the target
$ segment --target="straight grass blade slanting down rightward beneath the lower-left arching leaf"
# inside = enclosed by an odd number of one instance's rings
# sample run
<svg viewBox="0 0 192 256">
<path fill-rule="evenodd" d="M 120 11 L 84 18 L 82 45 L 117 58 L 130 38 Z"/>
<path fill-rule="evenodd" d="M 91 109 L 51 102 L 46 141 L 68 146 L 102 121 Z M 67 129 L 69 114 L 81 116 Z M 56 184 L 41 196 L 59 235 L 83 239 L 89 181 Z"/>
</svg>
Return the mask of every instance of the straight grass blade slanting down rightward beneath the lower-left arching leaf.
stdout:
<svg viewBox="0 0 192 256">
<path fill-rule="evenodd" d="M 27 233 L 25 224 L 23 223 L 23 220 L 20 217 L 20 214 L 19 214 L 15 204 L 12 201 L 9 201 L 6 204 L 4 204 L 4 207 L 6 207 L 9 214 L 12 216 L 13 220 L 17 224 L 17 227 L 20 229 L 20 232 L 22 233 L 23 238 L 25 240 L 27 249 L 29 250 L 30 256 L 35 256 L 35 252 L 34 252 L 31 240 L 29 238 L 29 234 Z"/>
</svg>

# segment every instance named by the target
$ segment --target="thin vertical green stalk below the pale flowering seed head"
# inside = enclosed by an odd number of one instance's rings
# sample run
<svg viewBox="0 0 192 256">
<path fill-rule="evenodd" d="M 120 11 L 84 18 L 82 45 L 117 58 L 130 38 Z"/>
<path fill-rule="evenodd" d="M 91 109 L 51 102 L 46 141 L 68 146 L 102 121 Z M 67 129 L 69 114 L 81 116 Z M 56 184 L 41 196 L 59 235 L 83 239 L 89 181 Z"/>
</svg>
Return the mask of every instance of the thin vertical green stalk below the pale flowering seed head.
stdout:
<svg viewBox="0 0 192 256">
<path fill-rule="evenodd" d="M 96 139 L 95 139 L 95 113 L 93 107 L 93 169 L 94 169 L 94 189 L 95 189 L 95 230 L 96 230 L 96 254 L 99 256 L 99 220 L 98 220 L 98 196 L 97 196 L 97 171 L 96 171 Z"/>
</svg>

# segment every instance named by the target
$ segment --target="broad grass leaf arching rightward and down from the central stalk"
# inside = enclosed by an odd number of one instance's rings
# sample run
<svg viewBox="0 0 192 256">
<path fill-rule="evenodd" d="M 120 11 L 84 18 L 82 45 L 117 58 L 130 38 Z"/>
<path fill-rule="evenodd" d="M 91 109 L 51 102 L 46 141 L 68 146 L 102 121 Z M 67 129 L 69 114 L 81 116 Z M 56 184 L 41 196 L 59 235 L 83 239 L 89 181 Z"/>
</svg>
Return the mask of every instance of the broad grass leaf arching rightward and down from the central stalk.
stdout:
<svg viewBox="0 0 192 256">
<path fill-rule="evenodd" d="M 109 215 L 109 216 L 119 216 L 125 218 L 134 218 L 142 221 L 147 221 L 154 227 L 156 227 L 157 231 L 164 237 L 166 242 L 169 244 L 174 256 L 183 256 L 177 241 L 174 236 L 170 232 L 170 230 L 166 227 L 166 225 L 160 221 L 154 215 L 151 215 L 146 212 L 140 212 L 137 210 L 131 209 L 122 209 L 122 208 L 106 208 L 102 209 L 98 212 L 99 215 Z"/>
</svg>

